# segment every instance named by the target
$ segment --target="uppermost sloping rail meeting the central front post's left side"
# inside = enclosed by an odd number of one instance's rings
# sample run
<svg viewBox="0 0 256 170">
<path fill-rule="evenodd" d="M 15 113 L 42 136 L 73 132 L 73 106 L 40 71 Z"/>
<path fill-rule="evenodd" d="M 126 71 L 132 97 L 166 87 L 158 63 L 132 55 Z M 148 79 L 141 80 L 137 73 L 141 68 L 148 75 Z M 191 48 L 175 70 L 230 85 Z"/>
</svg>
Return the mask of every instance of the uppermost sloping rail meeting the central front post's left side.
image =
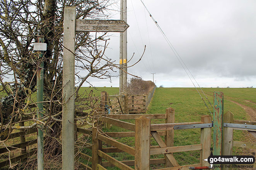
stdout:
<svg viewBox="0 0 256 170">
<path fill-rule="evenodd" d="M 99 120 L 103 121 L 105 123 L 109 123 L 109 124 L 114 125 L 114 126 L 118 126 L 120 128 L 135 131 L 135 125 L 132 124 L 132 123 L 128 123 L 128 122 L 125 122 L 125 121 L 116 120 L 116 119 L 112 119 L 112 118 L 107 118 L 107 117 L 99 118 Z"/>
</svg>

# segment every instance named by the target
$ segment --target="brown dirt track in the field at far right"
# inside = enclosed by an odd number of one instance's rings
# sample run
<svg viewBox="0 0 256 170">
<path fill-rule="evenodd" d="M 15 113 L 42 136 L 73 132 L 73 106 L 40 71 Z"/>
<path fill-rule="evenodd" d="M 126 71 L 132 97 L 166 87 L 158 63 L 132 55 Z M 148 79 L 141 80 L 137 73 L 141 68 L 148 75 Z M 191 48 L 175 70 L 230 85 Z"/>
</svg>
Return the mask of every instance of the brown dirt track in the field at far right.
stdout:
<svg viewBox="0 0 256 170">
<path fill-rule="evenodd" d="M 255 109 L 245 106 L 243 104 L 237 103 L 235 101 L 231 101 L 231 102 L 242 107 L 246 111 L 247 115 L 249 116 L 250 121 L 256 121 L 256 110 Z M 251 101 L 247 101 L 247 102 L 253 103 Z M 255 103 L 253 103 L 253 104 L 255 104 Z M 247 141 L 250 143 L 256 143 L 256 138 L 253 135 L 251 135 L 251 133 L 249 133 L 248 131 L 244 131 L 244 134 L 245 134 L 244 141 Z M 253 153 L 256 153 L 256 149 L 243 148 L 242 155 L 252 155 Z M 254 168 L 244 168 L 244 170 L 252 170 L 252 169 L 256 170 L 256 167 L 254 166 Z"/>
</svg>

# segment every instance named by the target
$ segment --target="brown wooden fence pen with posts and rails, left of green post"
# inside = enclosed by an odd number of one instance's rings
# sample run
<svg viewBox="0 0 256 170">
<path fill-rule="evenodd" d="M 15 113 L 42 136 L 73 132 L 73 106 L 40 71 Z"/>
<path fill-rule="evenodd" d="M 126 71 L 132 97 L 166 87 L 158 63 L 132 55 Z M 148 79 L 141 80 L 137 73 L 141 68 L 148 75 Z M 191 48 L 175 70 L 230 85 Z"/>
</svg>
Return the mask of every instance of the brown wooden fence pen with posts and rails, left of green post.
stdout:
<svg viewBox="0 0 256 170">
<path fill-rule="evenodd" d="M 121 120 L 135 119 L 135 124 Z M 150 124 L 152 119 L 165 119 L 165 124 Z M 106 115 L 100 118 L 102 122 L 130 130 L 128 132 L 106 132 L 99 133 L 97 128 L 92 130 L 78 129 L 80 133 L 92 134 L 92 157 L 84 153 L 79 153 L 80 163 L 92 170 L 106 170 L 105 167 L 115 166 L 121 170 L 133 170 L 130 166 L 135 166 L 135 170 L 149 170 L 150 164 L 164 163 L 168 170 L 188 169 L 188 167 L 207 166 L 208 163 L 202 161 L 210 155 L 211 128 L 201 128 L 201 143 L 186 146 L 173 146 L 174 126 L 195 125 L 211 123 L 211 116 L 202 116 L 201 121 L 189 123 L 174 123 L 174 109 L 166 109 L 166 114 L 126 114 L 126 115 Z M 192 127 L 193 128 L 193 127 Z M 164 140 L 160 136 L 164 136 Z M 128 146 L 116 141 L 113 137 L 135 137 L 135 147 Z M 150 138 L 153 137 L 158 143 L 157 146 L 150 146 Z M 102 148 L 102 142 L 109 148 Z M 194 165 L 180 166 L 172 153 L 183 151 L 200 150 L 200 163 Z M 135 157 L 135 160 L 116 160 L 108 153 L 125 152 Z M 165 154 L 165 158 L 150 159 L 150 155 Z M 102 162 L 102 159 L 106 162 Z M 82 163 L 83 160 L 92 162 L 92 167 Z M 167 170 L 161 168 L 158 170 Z"/>
</svg>

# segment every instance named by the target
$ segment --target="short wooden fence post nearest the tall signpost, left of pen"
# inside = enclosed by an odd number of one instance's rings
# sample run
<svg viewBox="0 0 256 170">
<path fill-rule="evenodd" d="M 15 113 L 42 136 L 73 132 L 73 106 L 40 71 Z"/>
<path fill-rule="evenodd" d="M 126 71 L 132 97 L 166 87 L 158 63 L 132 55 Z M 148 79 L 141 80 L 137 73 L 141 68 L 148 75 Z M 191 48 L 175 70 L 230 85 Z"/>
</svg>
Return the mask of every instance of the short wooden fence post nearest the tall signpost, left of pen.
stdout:
<svg viewBox="0 0 256 170">
<path fill-rule="evenodd" d="M 97 170 L 97 164 L 101 165 L 102 161 L 102 158 L 97 154 L 97 151 L 102 148 L 102 141 L 97 139 L 97 131 L 96 127 L 92 128 L 92 170 Z"/>
</svg>

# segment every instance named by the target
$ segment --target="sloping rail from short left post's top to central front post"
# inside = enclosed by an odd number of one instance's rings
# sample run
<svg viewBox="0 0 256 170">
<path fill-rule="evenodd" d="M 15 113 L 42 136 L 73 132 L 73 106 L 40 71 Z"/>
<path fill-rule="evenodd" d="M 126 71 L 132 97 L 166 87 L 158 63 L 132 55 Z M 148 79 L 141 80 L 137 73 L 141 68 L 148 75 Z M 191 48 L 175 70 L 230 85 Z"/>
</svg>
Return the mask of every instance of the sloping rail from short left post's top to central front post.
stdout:
<svg viewBox="0 0 256 170">
<path fill-rule="evenodd" d="M 128 146 L 128 145 L 125 145 L 119 141 L 116 141 L 116 140 L 113 140 L 111 138 L 108 138 L 104 135 L 101 135 L 101 134 L 98 134 L 97 135 L 97 138 L 109 145 L 112 145 L 112 146 L 115 146 L 116 148 L 122 150 L 122 151 L 125 151 L 126 153 L 129 153 L 131 155 L 135 155 L 135 149 L 131 146 Z"/>
</svg>

